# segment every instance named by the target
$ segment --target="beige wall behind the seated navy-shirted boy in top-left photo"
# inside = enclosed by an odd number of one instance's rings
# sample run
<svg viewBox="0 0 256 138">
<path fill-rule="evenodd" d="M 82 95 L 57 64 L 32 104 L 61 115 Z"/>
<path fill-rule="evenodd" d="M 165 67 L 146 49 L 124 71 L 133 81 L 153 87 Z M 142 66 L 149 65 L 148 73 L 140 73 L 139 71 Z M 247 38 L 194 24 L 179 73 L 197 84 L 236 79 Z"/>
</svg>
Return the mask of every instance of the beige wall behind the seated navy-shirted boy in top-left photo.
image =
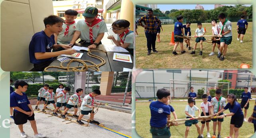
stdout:
<svg viewBox="0 0 256 138">
<path fill-rule="evenodd" d="M 30 40 L 34 33 L 45 29 L 43 19 L 51 14 L 52 0 L 4 0 L 1 3 L 2 70 L 29 71 L 33 68 L 28 52 Z"/>
</svg>

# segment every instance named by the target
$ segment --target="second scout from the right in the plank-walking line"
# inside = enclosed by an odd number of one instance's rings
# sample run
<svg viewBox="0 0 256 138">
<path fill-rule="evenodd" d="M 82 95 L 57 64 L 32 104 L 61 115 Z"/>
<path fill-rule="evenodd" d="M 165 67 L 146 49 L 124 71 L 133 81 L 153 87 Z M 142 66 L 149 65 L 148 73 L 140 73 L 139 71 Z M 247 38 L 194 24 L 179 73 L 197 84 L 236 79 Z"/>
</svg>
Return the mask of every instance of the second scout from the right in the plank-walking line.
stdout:
<svg viewBox="0 0 256 138">
<path fill-rule="evenodd" d="M 73 117 L 78 117 L 77 116 L 77 105 L 81 105 L 81 94 L 83 93 L 83 89 L 78 88 L 76 90 L 76 94 L 73 94 L 70 98 L 69 98 L 69 102 L 67 103 L 67 108 L 65 109 L 65 111 L 62 113 L 62 117 L 66 118 L 65 114 L 67 113 L 67 111 L 69 109 L 71 109 L 72 107 L 74 107 L 75 109 L 75 113 L 73 115 Z"/>
</svg>

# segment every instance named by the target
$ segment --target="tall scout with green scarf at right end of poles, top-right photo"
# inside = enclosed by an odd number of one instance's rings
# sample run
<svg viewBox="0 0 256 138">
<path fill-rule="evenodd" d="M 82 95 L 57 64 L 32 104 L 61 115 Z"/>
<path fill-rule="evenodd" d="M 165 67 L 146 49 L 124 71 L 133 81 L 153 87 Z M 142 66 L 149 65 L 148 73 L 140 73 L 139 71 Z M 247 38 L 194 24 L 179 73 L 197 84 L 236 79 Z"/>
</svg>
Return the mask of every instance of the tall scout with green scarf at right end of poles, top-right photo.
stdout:
<svg viewBox="0 0 256 138">
<path fill-rule="evenodd" d="M 218 35 L 218 37 L 221 38 L 221 47 L 220 53 L 217 57 L 220 58 L 221 61 L 223 61 L 226 51 L 228 49 L 228 45 L 230 45 L 232 42 L 232 24 L 230 21 L 228 21 L 228 19 L 226 19 L 226 16 L 223 13 L 219 14 L 218 18 L 221 21 L 219 23 L 221 32 Z"/>
</svg>

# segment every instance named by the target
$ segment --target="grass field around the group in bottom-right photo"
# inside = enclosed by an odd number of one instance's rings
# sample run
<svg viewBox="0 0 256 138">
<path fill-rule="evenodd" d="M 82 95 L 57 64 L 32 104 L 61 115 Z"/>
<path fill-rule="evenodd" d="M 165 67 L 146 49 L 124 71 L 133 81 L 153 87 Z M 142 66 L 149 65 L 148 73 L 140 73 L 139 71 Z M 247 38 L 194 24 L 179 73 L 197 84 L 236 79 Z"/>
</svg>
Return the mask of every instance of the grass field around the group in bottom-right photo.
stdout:
<svg viewBox="0 0 256 138">
<path fill-rule="evenodd" d="M 239 103 L 241 101 L 238 101 Z M 196 106 L 200 108 L 199 101 L 196 102 Z M 142 138 L 152 138 L 150 133 L 150 109 L 149 109 L 150 102 L 136 102 L 136 131 Z M 170 104 L 173 106 L 175 113 L 177 114 L 178 119 L 184 119 L 185 117 L 185 106 L 187 105 L 186 101 L 172 101 Z M 248 109 L 247 120 L 252 115 L 254 107 L 254 100 L 250 101 L 250 106 Z M 201 110 L 201 108 L 200 108 Z M 229 113 L 226 110 L 224 113 Z M 195 114 L 197 115 L 197 112 Z M 171 114 L 171 119 L 173 119 L 173 115 Z M 230 126 L 230 119 L 231 117 L 224 118 L 224 122 L 221 125 L 221 136 L 224 138 L 229 136 L 229 126 Z M 201 122 L 199 122 L 199 126 L 201 127 Z M 210 122 L 210 134 L 213 134 L 213 121 Z M 171 138 L 184 138 L 185 137 L 185 124 L 181 124 L 179 126 L 171 126 Z M 217 128 L 218 130 L 218 128 Z M 218 131 L 217 131 L 218 132 Z M 207 134 L 207 129 L 205 126 L 204 129 L 204 138 Z M 242 127 L 239 129 L 239 138 L 250 138 L 254 134 L 254 127 L 252 123 L 244 122 Z M 192 125 L 189 130 L 188 138 L 197 138 L 198 133 L 196 130 L 195 125 Z"/>
</svg>

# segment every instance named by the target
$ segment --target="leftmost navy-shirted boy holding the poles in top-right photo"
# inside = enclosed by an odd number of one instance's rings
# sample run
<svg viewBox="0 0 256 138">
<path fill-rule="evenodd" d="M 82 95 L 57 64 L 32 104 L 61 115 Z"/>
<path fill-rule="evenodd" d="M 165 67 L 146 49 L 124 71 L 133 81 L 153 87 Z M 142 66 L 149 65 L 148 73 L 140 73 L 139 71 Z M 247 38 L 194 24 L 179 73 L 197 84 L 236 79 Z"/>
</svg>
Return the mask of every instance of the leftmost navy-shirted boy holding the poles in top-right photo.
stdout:
<svg viewBox="0 0 256 138">
<path fill-rule="evenodd" d="M 183 22 L 183 16 L 178 16 L 177 21 L 174 24 L 174 42 L 175 42 L 175 45 L 173 47 L 172 54 L 175 54 L 175 55 L 178 54 L 176 52 L 176 49 L 177 49 L 179 43 L 180 43 L 180 46 L 181 46 L 181 54 L 186 52 L 186 51 L 183 50 L 183 38 L 175 37 L 176 35 L 180 36 L 180 37 L 183 37 L 183 35 L 184 35 L 182 22 Z"/>
</svg>

